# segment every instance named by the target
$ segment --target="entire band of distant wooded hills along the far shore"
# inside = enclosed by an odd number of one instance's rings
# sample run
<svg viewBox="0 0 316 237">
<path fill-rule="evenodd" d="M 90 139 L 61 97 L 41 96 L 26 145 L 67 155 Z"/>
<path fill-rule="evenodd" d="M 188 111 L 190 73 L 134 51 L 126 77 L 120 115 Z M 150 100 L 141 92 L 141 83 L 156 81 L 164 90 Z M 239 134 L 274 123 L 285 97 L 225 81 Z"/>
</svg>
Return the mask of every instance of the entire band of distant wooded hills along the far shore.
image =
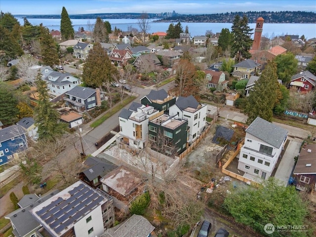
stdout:
<svg viewBox="0 0 316 237">
<path fill-rule="evenodd" d="M 265 23 L 316 23 L 315 12 L 305 11 L 247 11 L 247 12 L 227 12 L 217 14 L 178 14 L 173 17 L 166 17 L 157 21 L 162 22 L 220 22 L 232 23 L 235 15 L 247 16 L 249 23 L 255 23 L 260 16 L 265 19 Z M 138 19 L 141 13 L 93 13 L 69 15 L 71 19 Z M 150 19 L 161 18 L 160 14 L 148 13 Z M 16 17 L 60 19 L 60 15 L 15 15 Z"/>
</svg>

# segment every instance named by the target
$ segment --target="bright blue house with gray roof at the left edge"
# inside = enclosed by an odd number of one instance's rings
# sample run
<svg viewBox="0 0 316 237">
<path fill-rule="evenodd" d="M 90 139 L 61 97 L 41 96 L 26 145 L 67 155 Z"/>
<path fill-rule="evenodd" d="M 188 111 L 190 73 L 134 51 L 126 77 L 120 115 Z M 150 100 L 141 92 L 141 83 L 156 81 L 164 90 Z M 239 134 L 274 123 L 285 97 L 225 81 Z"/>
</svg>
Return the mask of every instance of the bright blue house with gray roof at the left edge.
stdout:
<svg viewBox="0 0 316 237">
<path fill-rule="evenodd" d="M 26 133 L 21 125 L 0 129 L 0 165 L 9 162 L 14 154 L 28 148 Z"/>
</svg>

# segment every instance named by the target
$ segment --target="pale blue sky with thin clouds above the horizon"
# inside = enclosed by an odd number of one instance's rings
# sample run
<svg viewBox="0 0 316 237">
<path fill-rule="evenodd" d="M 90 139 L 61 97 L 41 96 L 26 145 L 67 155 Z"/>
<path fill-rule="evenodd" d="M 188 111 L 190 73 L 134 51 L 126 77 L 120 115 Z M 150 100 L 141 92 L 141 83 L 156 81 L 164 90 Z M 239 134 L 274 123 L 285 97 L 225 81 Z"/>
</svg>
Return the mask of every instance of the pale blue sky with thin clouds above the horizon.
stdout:
<svg viewBox="0 0 316 237">
<path fill-rule="evenodd" d="M 172 12 L 211 14 L 231 11 L 316 12 L 315 0 L 0 0 L 0 10 L 15 14 L 68 14 L 114 12 Z"/>
</svg>

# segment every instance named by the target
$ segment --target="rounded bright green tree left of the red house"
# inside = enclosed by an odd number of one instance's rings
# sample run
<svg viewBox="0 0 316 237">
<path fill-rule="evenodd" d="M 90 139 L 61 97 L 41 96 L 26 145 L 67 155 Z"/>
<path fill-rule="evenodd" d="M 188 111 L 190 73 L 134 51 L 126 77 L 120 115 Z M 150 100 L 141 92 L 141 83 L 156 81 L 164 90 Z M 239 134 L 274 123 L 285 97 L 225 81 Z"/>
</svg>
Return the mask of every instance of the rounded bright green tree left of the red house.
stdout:
<svg viewBox="0 0 316 237">
<path fill-rule="evenodd" d="M 297 62 L 292 53 L 279 54 L 274 58 L 277 67 L 277 77 L 282 80 L 283 85 L 287 86 L 291 77 L 297 73 Z"/>
</svg>

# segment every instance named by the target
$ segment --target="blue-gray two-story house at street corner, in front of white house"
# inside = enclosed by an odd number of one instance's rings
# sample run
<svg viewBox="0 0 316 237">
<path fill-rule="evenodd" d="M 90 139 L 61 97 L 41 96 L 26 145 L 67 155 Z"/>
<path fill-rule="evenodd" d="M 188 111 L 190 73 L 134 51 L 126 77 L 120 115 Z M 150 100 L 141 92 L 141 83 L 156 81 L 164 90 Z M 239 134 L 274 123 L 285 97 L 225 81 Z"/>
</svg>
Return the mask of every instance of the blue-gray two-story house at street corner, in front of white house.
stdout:
<svg viewBox="0 0 316 237">
<path fill-rule="evenodd" d="M 67 106 L 82 112 L 101 105 L 100 89 L 76 86 L 64 97 Z"/>
</svg>

